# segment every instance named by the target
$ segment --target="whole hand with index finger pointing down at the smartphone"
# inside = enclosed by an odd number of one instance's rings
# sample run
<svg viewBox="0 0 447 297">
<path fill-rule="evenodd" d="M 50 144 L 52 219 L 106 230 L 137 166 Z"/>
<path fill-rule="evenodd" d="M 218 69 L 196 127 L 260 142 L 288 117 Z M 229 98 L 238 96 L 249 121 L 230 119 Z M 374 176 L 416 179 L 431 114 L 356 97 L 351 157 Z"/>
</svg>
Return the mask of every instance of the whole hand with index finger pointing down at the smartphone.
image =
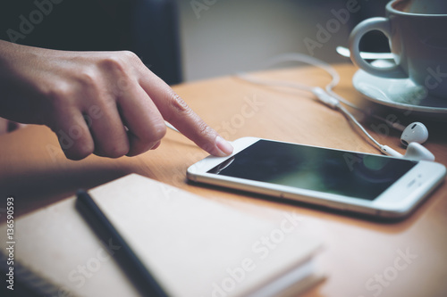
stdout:
<svg viewBox="0 0 447 297">
<path fill-rule="evenodd" d="M 155 149 L 164 120 L 216 156 L 231 144 L 131 52 L 66 52 L 0 41 L 0 116 L 44 124 L 67 158 Z"/>
</svg>

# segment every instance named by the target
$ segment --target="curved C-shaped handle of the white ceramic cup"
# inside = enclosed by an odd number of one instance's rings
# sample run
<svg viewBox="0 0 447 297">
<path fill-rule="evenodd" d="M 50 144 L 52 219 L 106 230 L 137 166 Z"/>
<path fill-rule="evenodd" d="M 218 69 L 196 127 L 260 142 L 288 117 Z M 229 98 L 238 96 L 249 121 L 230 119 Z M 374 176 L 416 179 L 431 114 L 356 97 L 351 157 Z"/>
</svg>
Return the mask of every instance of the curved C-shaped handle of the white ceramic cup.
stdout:
<svg viewBox="0 0 447 297">
<path fill-rule="evenodd" d="M 350 60 L 358 66 L 358 68 L 381 78 L 408 78 L 409 76 L 401 69 L 401 66 L 394 63 L 390 67 L 375 67 L 366 62 L 359 53 L 358 45 L 361 38 L 369 31 L 379 30 L 391 40 L 390 20 L 386 18 L 371 18 L 361 21 L 350 32 Z"/>
</svg>

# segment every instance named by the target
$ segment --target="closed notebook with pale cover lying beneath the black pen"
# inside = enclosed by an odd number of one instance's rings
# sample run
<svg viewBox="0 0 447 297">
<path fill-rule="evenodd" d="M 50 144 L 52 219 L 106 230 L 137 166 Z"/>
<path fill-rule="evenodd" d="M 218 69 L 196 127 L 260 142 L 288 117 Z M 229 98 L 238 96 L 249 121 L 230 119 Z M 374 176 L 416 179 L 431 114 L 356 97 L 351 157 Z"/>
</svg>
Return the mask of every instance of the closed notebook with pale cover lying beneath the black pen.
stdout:
<svg viewBox="0 0 447 297">
<path fill-rule="evenodd" d="M 260 219 L 136 174 L 89 194 L 170 296 L 288 296 L 322 279 L 322 242 L 301 234 L 293 213 Z M 144 295 L 75 197 L 16 219 L 14 240 L 15 280 L 46 296 Z"/>
</svg>

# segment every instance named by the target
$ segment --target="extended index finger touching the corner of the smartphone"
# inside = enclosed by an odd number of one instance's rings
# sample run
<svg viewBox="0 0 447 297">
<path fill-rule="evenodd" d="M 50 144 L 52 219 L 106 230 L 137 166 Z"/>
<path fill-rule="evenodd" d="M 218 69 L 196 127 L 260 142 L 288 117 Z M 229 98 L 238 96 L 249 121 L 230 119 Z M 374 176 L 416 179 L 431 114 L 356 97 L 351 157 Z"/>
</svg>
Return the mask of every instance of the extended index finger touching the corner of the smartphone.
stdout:
<svg viewBox="0 0 447 297">
<path fill-rule="evenodd" d="M 204 120 L 192 111 L 190 106 L 173 91 L 161 78 L 150 70 L 140 80 L 140 86 L 162 114 L 164 120 L 173 124 L 181 134 L 187 136 L 207 153 L 223 157 L 232 153 L 232 144 L 210 128 Z"/>
</svg>

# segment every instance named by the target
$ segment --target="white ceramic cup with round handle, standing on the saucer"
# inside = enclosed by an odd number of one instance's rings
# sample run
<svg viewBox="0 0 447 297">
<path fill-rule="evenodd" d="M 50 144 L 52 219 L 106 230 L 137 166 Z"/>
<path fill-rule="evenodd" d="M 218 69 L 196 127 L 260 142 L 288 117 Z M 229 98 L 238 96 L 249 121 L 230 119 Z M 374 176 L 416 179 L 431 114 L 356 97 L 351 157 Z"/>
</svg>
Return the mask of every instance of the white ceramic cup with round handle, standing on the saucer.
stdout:
<svg viewBox="0 0 447 297">
<path fill-rule="evenodd" d="M 360 57 L 360 39 L 372 30 L 388 37 L 394 65 L 375 67 Z M 386 5 L 386 18 L 367 19 L 352 30 L 350 59 L 372 75 L 410 78 L 429 94 L 447 99 L 447 1 L 393 0 Z"/>
</svg>

